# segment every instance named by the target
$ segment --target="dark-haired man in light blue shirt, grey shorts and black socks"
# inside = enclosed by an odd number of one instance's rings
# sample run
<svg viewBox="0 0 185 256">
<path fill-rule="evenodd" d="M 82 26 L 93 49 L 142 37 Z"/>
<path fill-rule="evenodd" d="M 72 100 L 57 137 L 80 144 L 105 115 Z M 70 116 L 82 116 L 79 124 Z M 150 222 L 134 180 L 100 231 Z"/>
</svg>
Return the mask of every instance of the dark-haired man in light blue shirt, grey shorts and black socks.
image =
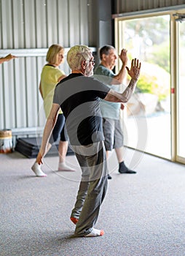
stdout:
<svg viewBox="0 0 185 256">
<path fill-rule="evenodd" d="M 96 67 L 94 74 L 103 83 L 106 83 L 114 91 L 119 91 L 119 85 L 122 84 L 126 75 L 127 50 L 122 49 L 119 59 L 122 61 L 122 67 L 118 74 L 114 74 L 117 61 L 117 52 L 111 45 L 105 45 L 100 49 L 101 63 Z M 108 159 L 109 151 L 114 148 L 119 162 L 119 173 L 136 173 L 130 170 L 124 162 L 123 132 L 119 121 L 119 111 L 124 105 L 119 102 L 107 102 L 101 99 L 101 114 L 103 116 L 103 134 L 105 137 L 106 157 Z M 111 176 L 108 176 L 111 179 Z"/>
</svg>

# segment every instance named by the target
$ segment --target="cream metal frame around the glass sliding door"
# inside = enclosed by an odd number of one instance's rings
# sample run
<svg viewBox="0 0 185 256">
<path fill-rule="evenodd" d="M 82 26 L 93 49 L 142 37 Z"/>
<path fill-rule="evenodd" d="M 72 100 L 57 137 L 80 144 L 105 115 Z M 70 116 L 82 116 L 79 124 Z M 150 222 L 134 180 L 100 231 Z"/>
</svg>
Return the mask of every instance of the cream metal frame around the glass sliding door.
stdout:
<svg viewBox="0 0 185 256">
<path fill-rule="evenodd" d="M 124 45 L 123 38 L 119 36 L 121 26 L 120 20 L 133 20 L 134 18 L 148 18 L 157 15 L 170 15 L 170 118 L 171 118 L 171 159 L 172 162 L 181 162 L 185 164 L 185 157 L 178 156 L 178 22 L 176 22 L 175 14 L 184 12 L 181 10 L 166 10 L 159 12 L 147 12 L 145 14 L 138 12 L 137 14 L 123 15 L 122 17 L 114 17 L 114 40 L 115 48 L 119 49 L 119 45 Z M 120 49 L 119 49 L 120 50 Z M 118 61 L 118 71 L 121 62 Z M 137 149 L 135 149 L 137 150 Z M 159 157 L 159 156 L 157 156 Z M 162 157 L 163 158 L 163 157 Z"/>
</svg>

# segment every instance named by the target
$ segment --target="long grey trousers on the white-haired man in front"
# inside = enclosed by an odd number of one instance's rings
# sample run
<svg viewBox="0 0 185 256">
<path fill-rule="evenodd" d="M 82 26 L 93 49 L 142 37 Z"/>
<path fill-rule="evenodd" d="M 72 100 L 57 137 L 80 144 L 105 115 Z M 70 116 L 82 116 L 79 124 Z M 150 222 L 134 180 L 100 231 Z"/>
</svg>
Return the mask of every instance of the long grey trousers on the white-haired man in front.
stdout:
<svg viewBox="0 0 185 256">
<path fill-rule="evenodd" d="M 107 190 L 106 150 L 103 141 L 89 146 L 73 146 L 82 169 L 82 179 L 71 217 L 79 219 L 75 235 L 91 232 L 98 219 L 101 203 Z"/>
</svg>

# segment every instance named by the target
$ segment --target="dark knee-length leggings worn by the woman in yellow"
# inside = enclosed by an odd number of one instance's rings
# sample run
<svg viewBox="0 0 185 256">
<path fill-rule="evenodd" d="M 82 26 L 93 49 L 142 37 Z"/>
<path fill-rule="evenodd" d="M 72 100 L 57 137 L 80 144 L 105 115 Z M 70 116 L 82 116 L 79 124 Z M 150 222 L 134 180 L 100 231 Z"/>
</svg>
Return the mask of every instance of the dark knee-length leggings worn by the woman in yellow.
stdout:
<svg viewBox="0 0 185 256">
<path fill-rule="evenodd" d="M 68 140 L 67 136 L 65 138 L 65 134 L 64 134 L 64 124 L 65 124 L 65 117 L 63 116 L 63 114 L 59 114 L 55 127 L 52 130 L 52 135 L 50 137 L 49 143 L 55 143 L 58 140 L 58 137 L 60 135 L 60 140 L 61 141 L 66 141 Z"/>
</svg>

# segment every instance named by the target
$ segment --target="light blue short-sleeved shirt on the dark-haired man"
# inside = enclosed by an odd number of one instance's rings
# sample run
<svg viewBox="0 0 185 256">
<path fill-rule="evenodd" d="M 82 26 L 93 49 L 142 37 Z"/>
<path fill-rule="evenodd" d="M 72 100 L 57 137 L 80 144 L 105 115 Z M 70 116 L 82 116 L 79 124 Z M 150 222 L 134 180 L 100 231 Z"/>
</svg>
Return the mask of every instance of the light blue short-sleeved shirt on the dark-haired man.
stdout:
<svg viewBox="0 0 185 256">
<path fill-rule="evenodd" d="M 112 78 L 115 76 L 112 70 L 99 64 L 98 67 L 95 68 L 94 74 L 95 78 L 101 80 L 101 82 L 105 83 L 106 86 L 109 86 L 109 88 L 113 89 L 114 91 L 119 91 L 119 85 L 111 85 Z M 106 100 L 101 99 L 100 108 L 103 118 L 119 120 L 120 107 L 121 103 L 119 102 L 107 102 Z"/>
</svg>

